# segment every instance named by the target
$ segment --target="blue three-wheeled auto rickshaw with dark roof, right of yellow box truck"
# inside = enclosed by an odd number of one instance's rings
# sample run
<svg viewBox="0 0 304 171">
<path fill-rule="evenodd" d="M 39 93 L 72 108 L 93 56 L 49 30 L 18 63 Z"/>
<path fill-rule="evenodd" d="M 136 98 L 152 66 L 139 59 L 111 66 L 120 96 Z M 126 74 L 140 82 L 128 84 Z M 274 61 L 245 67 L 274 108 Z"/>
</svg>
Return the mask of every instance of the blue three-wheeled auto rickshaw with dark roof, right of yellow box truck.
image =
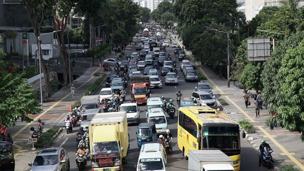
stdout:
<svg viewBox="0 0 304 171">
<path fill-rule="evenodd" d="M 154 123 L 140 123 L 137 127 L 137 146 L 141 146 L 146 142 L 156 142 L 157 133 Z"/>
</svg>

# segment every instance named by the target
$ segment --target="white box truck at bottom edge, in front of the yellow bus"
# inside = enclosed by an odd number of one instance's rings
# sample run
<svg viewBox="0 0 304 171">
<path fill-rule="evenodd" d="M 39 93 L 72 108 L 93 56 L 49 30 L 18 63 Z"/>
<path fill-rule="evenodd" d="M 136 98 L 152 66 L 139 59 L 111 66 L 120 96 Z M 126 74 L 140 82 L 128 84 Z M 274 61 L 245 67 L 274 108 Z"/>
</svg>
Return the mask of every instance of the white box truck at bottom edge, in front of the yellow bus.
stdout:
<svg viewBox="0 0 304 171">
<path fill-rule="evenodd" d="M 234 171 L 233 160 L 220 150 L 189 150 L 188 171 Z"/>
</svg>

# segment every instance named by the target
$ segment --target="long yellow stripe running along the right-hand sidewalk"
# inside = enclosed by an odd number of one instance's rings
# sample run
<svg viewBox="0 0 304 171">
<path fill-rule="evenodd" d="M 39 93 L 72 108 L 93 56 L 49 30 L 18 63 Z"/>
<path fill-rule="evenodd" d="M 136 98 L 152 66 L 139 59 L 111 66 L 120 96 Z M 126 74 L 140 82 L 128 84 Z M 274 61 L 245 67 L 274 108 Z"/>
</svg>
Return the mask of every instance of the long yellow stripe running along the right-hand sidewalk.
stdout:
<svg viewBox="0 0 304 171">
<path fill-rule="evenodd" d="M 178 41 L 178 40 L 177 40 Z M 179 42 L 179 41 L 178 41 Z M 179 44 L 181 44 L 181 42 L 179 42 Z M 194 61 L 194 58 L 192 57 L 191 54 L 188 53 L 188 51 L 186 51 L 186 53 L 192 58 L 192 60 Z M 195 62 L 196 63 L 196 62 Z M 196 65 L 198 65 L 196 63 Z M 198 65 L 199 66 L 199 65 Z M 219 90 L 219 92 L 224 93 L 209 77 L 208 75 L 202 70 L 201 67 L 199 67 L 199 69 L 202 71 L 202 73 L 206 76 L 206 78 L 216 87 L 216 89 Z M 238 106 L 236 103 L 234 103 L 228 96 L 225 96 L 226 99 L 228 99 L 235 107 L 237 107 L 237 109 L 239 109 L 249 120 L 253 121 L 253 119 L 251 117 L 249 117 L 249 115 L 247 113 L 244 112 L 244 110 L 242 110 L 240 108 L 240 106 Z M 256 122 L 256 121 L 254 121 Z M 304 170 L 304 166 L 292 156 L 292 153 L 289 153 L 280 143 L 278 143 L 278 141 L 276 141 L 267 131 L 265 131 L 262 126 L 257 126 L 278 148 L 280 148 L 282 150 L 282 152 L 284 154 L 286 154 L 288 156 L 289 159 L 291 159 L 297 166 L 299 166 L 300 169 Z"/>
</svg>

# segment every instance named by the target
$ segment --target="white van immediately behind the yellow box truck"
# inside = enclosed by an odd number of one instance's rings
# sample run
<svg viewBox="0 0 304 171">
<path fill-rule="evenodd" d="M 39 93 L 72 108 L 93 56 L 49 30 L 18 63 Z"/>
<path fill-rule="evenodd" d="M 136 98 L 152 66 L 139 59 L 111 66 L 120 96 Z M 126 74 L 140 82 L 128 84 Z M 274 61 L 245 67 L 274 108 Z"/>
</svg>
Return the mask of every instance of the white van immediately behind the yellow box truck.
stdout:
<svg viewBox="0 0 304 171">
<path fill-rule="evenodd" d="M 136 123 L 139 125 L 139 120 L 140 120 L 140 109 L 137 106 L 137 103 L 123 103 L 120 105 L 120 111 L 127 112 L 127 121 L 128 124 Z"/>
</svg>

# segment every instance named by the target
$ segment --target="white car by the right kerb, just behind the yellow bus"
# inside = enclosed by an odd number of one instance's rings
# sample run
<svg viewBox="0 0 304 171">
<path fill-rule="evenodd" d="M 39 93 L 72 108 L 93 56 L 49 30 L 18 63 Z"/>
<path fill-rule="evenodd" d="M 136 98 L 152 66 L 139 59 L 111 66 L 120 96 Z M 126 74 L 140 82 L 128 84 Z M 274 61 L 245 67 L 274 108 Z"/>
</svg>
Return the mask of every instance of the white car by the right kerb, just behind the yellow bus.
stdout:
<svg viewBox="0 0 304 171">
<path fill-rule="evenodd" d="M 197 103 L 199 103 L 199 106 L 204 106 L 203 104 L 206 104 L 207 106 L 211 108 L 216 108 L 217 103 L 214 99 L 214 96 L 211 96 L 208 92 L 192 92 L 191 98 L 196 99 Z"/>
</svg>

